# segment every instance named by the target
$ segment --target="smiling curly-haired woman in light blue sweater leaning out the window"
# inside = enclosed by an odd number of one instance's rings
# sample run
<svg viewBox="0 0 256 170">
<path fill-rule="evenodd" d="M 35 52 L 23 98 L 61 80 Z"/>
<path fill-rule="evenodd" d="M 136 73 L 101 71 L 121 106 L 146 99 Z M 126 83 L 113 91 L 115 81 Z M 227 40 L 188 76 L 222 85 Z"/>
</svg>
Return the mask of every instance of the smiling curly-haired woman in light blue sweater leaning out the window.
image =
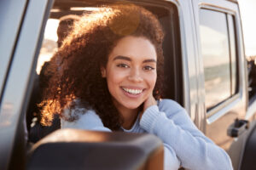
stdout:
<svg viewBox="0 0 256 170">
<path fill-rule="evenodd" d="M 160 100 L 163 37 L 154 14 L 135 5 L 84 15 L 55 54 L 61 69 L 52 68 L 42 123 L 58 113 L 62 128 L 153 133 L 166 169 L 232 169 L 180 105 Z"/>
</svg>

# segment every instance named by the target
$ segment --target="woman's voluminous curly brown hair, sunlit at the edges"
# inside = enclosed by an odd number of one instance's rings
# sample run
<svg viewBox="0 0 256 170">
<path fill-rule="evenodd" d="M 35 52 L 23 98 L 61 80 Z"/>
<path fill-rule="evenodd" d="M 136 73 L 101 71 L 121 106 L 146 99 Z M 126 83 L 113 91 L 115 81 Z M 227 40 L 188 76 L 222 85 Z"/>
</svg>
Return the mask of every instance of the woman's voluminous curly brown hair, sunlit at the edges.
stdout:
<svg viewBox="0 0 256 170">
<path fill-rule="evenodd" d="M 157 81 L 154 98 L 160 99 L 163 76 L 162 42 L 164 33 L 159 20 L 145 8 L 133 4 L 105 6 L 91 14 L 84 14 L 74 24 L 73 31 L 62 43 L 49 64 L 53 76 L 41 102 L 43 125 L 50 125 L 54 114 L 67 121 L 78 116 L 62 113 L 79 105 L 93 109 L 105 127 L 119 130 L 123 119 L 113 105 L 101 66 L 106 66 L 108 55 L 122 37 L 145 37 L 157 53 Z"/>
</svg>

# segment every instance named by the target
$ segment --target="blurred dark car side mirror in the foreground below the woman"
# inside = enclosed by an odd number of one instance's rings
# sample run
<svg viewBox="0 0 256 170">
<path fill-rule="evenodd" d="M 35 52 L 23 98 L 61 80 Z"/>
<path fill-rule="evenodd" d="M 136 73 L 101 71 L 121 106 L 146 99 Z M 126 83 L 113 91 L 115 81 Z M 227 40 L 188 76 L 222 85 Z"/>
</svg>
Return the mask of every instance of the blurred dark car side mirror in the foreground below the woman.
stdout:
<svg viewBox="0 0 256 170">
<path fill-rule="evenodd" d="M 27 169 L 163 169 L 163 144 L 148 133 L 60 129 L 32 146 Z"/>
</svg>

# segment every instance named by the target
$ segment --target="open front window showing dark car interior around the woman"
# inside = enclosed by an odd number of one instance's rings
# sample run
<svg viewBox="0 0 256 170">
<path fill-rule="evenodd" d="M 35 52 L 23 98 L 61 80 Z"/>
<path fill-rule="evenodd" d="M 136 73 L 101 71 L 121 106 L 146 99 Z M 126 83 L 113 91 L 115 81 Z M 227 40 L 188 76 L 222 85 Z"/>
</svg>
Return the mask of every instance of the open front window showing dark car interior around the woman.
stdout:
<svg viewBox="0 0 256 170">
<path fill-rule="evenodd" d="M 47 133 L 52 132 L 56 128 L 60 127 L 60 122 L 54 121 L 53 127 L 42 127 L 40 125 L 40 111 L 38 110 L 38 103 L 42 101 L 42 93 L 44 91 L 44 84 L 42 81 L 44 78 L 48 79 L 48 76 L 44 74 L 45 68 L 49 65 L 50 59 L 54 56 L 58 50 L 58 36 L 63 36 L 67 33 L 67 30 L 59 29 L 61 26 L 61 20 L 65 17 L 79 17 L 82 14 L 90 14 L 91 12 L 98 10 L 100 6 L 111 4 L 109 1 L 61 1 L 56 0 L 53 7 L 50 10 L 49 19 L 44 31 L 44 40 L 42 48 L 38 55 L 37 65 L 37 78 L 34 82 L 34 89 L 28 111 L 26 112 L 26 123 L 29 131 L 30 141 L 36 142 L 38 139 L 44 138 Z M 136 1 L 131 2 L 137 4 Z M 165 31 L 165 39 L 163 42 L 163 53 L 165 56 L 165 98 L 174 99 L 181 105 L 183 105 L 183 73 L 182 73 L 182 58 L 181 58 L 181 45 L 180 45 L 180 32 L 179 32 L 179 20 L 177 14 L 177 6 L 173 3 L 152 3 L 145 2 L 139 3 L 144 8 L 147 8 L 160 20 L 161 25 Z M 78 19 L 79 20 L 79 19 Z M 70 20 L 67 22 L 68 27 L 72 27 L 73 24 Z M 49 62 L 48 62 L 49 61 Z M 57 61 L 58 62 L 58 61 Z M 44 79 L 45 80 L 45 79 Z M 45 81 L 44 81 L 45 82 Z M 46 81 L 48 82 L 48 81 Z M 42 88 L 43 87 L 43 88 Z M 39 129 L 39 130 L 38 130 Z M 40 130 L 41 129 L 41 130 Z"/>
</svg>

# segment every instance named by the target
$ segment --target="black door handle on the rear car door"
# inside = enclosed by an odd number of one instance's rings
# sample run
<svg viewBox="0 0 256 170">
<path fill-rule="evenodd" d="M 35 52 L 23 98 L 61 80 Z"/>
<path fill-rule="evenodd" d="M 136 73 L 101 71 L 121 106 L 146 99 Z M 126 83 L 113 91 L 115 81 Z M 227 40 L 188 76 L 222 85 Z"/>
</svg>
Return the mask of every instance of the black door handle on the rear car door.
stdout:
<svg viewBox="0 0 256 170">
<path fill-rule="evenodd" d="M 239 120 L 236 118 L 228 128 L 228 136 L 238 137 L 241 133 L 245 132 L 249 127 L 249 122 L 247 120 Z"/>
</svg>

